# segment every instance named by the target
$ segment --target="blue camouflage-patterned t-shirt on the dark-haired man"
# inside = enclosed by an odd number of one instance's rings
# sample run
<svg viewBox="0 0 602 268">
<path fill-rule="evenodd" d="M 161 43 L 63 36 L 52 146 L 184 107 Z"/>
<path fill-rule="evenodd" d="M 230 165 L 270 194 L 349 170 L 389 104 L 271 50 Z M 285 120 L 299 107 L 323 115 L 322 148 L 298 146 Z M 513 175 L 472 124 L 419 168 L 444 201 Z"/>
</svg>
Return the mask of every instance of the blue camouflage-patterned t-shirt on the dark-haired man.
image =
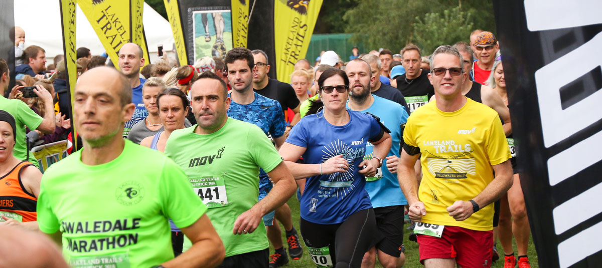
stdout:
<svg viewBox="0 0 602 268">
<path fill-rule="evenodd" d="M 255 100 L 247 105 L 241 105 L 232 100 L 228 109 L 228 117 L 255 124 L 263 130 L 265 135 L 280 138 L 284 135 L 286 127 L 280 103 L 257 93 L 253 94 Z M 259 169 L 259 200 L 263 199 L 272 190 L 272 187 L 270 177 L 263 169 Z"/>
</svg>

